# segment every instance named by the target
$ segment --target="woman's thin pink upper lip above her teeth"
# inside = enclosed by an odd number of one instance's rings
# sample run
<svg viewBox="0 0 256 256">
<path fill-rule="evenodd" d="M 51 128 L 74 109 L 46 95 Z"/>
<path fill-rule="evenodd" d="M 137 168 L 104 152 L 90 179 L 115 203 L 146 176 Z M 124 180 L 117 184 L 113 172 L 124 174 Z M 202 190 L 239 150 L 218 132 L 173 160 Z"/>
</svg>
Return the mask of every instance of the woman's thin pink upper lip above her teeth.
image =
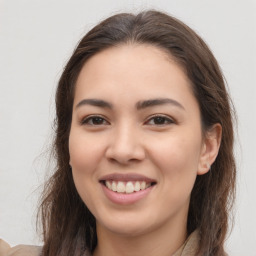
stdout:
<svg viewBox="0 0 256 256">
<path fill-rule="evenodd" d="M 100 181 L 113 180 L 113 181 L 146 181 L 146 182 L 156 182 L 156 180 L 151 179 L 147 176 L 137 174 L 137 173 L 111 173 L 104 175 L 100 178 Z"/>
</svg>

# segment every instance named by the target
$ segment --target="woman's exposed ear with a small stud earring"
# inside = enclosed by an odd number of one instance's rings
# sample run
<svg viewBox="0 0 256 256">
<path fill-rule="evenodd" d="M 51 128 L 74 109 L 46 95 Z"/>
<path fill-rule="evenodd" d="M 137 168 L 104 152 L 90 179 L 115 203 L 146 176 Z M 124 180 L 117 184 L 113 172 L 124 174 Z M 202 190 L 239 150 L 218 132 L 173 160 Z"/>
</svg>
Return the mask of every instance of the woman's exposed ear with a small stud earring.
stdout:
<svg viewBox="0 0 256 256">
<path fill-rule="evenodd" d="M 198 165 L 198 175 L 203 175 L 211 169 L 220 148 L 222 135 L 222 127 L 220 124 L 214 124 L 208 131 L 206 131 L 202 143 L 202 150 Z"/>
</svg>

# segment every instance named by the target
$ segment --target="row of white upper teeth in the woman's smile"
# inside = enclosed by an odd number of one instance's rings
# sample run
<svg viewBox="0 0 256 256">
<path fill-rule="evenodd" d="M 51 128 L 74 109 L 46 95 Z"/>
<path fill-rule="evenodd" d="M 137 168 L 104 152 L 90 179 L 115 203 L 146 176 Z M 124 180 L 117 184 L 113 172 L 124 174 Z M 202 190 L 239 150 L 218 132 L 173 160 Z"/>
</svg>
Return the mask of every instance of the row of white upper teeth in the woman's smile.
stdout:
<svg viewBox="0 0 256 256">
<path fill-rule="evenodd" d="M 117 193 L 131 194 L 133 192 L 138 192 L 144 190 L 151 186 L 151 183 L 146 183 L 145 181 L 106 181 L 105 185 L 108 189 Z"/>
</svg>

